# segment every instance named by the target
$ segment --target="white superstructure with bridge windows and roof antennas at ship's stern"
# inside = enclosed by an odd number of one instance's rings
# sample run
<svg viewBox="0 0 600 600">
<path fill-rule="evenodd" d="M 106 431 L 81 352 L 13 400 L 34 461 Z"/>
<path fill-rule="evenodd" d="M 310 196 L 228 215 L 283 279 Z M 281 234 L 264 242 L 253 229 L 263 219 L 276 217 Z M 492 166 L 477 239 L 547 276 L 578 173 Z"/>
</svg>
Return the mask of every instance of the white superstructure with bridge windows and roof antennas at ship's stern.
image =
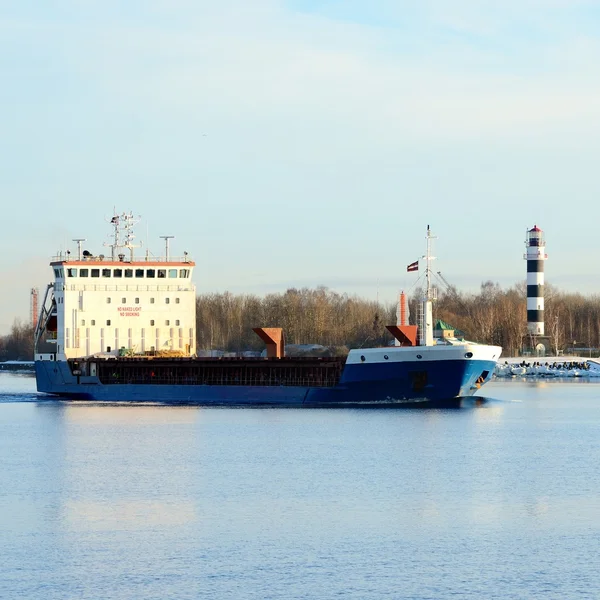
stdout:
<svg viewBox="0 0 600 600">
<path fill-rule="evenodd" d="M 115 215 L 111 257 L 81 249 L 54 257 L 36 329 L 36 360 L 96 354 L 196 353 L 195 263 L 187 254 L 135 257 L 133 217 Z M 124 235 L 123 235 L 124 234 Z M 128 250 L 127 254 L 120 250 Z"/>
</svg>

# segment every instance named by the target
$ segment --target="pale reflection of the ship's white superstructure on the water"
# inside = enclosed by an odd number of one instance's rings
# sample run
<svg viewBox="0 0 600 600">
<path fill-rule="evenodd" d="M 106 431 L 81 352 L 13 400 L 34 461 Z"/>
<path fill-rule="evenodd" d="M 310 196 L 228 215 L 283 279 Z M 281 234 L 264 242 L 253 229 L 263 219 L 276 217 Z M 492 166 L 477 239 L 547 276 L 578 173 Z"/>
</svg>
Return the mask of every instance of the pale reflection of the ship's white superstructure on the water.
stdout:
<svg viewBox="0 0 600 600">
<path fill-rule="evenodd" d="M 37 405 L 36 413 L 44 476 L 52 482 L 47 517 L 65 534 L 196 520 L 201 411 L 54 402 Z"/>
</svg>

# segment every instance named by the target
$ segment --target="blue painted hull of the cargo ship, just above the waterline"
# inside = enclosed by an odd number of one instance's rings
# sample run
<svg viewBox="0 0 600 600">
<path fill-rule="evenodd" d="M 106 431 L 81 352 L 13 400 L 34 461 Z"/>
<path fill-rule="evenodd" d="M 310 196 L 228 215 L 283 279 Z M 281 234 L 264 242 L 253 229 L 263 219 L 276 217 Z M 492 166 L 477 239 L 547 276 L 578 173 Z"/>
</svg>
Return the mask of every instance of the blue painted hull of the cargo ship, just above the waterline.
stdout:
<svg viewBox="0 0 600 600">
<path fill-rule="evenodd" d="M 476 392 L 491 378 L 495 360 L 346 364 L 331 387 L 103 384 L 76 377 L 63 361 L 36 361 L 38 391 L 69 400 L 153 402 L 199 406 L 353 407 L 443 404 Z"/>
</svg>

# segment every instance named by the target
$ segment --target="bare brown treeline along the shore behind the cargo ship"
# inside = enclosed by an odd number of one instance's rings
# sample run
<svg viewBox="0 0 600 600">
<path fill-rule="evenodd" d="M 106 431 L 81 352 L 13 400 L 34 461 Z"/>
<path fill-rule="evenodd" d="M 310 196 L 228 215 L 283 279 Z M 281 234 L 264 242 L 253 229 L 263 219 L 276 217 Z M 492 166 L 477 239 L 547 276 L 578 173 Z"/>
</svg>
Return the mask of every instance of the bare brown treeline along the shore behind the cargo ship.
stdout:
<svg viewBox="0 0 600 600">
<path fill-rule="evenodd" d="M 409 299 L 416 323 L 421 290 Z M 204 350 L 262 350 L 253 327 L 283 327 L 288 344 L 359 348 L 392 341 L 385 325 L 396 323 L 396 303 L 381 304 L 320 287 L 289 289 L 283 294 L 203 294 L 196 300 L 197 345 Z M 502 289 L 483 283 L 477 293 L 444 287 L 434 303 L 434 320 L 442 319 L 467 339 L 503 347 L 505 356 L 520 354 L 527 343 L 526 287 Z M 563 293 L 545 287 L 545 329 L 550 351 L 600 348 L 600 296 Z M 0 337 L 0 360 L 32 360 L 33 328 L 15 321 Z"/>
</svg>

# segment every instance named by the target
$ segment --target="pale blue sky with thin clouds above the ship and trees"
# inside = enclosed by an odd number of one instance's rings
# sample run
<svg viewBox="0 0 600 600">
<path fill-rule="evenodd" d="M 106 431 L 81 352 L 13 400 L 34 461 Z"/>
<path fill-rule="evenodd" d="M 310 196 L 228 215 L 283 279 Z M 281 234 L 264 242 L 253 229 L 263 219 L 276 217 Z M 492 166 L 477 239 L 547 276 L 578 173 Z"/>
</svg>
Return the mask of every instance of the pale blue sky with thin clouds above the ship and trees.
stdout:
<svg viewBox="0 0 600 600">
<path fill-rule="evenodd" d="M 368 7 L 368 8 L 365 8 Z M 463 290 L 597 293 L 600 3 L 0 4 L 0 333 L 113 207 L 196 260 L 199 292 L 392 300 L 438 236 Z"/>
</svg>

